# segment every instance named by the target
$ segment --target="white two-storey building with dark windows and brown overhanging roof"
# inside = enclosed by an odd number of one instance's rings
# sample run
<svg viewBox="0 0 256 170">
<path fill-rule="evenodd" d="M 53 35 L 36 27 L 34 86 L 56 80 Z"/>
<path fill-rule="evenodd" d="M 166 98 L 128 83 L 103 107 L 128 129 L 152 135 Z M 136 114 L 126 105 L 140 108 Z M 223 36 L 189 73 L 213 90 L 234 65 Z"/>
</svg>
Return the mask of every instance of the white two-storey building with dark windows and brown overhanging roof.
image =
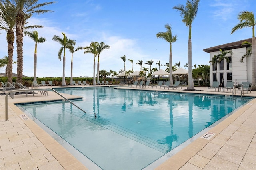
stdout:
<svg viewBox="0 0 256 170">
<path fill-rule="evenodd" d="M 240 84 L 242 81 L 248 81 L 252 83 L 252 57 L 245 58 L 243 63 L 240 62 L 241 57 L 245 55 L 248 48 L 250 48 L 250 45 L 241 45 L 244 41 L 252 43 L 252 38 L 232 43 L 226 43 L 203 50 L 207 53 L 210 53 L 210 61 L 214 55 L 220 53 L 220 49 L 225 51 L 232 51 L 232 55 L 227 55 L 230 59 L 229 63 L 227 63 L 226 60 L 217 63 L 216 66 L 213 66 L 212 63 L 210 63 L 211 85 L 213 81 L 219 81 L 221 84 L 223 75 L 224 84 L 222 84 L 222 86 L 226 86 L 227 81 L 235 82 L 236 79 L 238 84 Z"/>
</svg>

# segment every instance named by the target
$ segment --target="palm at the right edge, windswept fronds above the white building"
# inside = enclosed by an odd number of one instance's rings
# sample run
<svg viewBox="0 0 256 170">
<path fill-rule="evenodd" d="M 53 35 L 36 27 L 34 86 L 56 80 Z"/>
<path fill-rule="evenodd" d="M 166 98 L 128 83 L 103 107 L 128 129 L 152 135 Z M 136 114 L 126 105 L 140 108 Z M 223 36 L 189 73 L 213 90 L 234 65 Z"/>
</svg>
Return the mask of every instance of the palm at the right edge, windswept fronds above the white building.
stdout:
<svg viewBox="0 0 256 170">
<path fill-rule="evenodd" d="M 256 25 L 256 20 L 254 18 L 254 12 L 249 11 L 241 11 L 237 15 L 238 23 L 234 28 L 232 28 L 231 34 L 233 34 L 236 30 L 252 27 L 252 86 L 251 90 L 256 90 L 256 40 L 254 34 L 254 27 Z"/>
</svg>

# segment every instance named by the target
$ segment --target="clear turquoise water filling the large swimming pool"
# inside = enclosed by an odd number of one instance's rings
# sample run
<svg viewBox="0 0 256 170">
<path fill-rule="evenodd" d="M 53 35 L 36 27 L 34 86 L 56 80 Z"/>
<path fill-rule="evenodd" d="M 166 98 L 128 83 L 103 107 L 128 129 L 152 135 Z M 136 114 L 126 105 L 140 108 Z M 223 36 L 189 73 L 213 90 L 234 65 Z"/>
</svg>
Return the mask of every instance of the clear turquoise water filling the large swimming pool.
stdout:
<svg viewBox="0 0 256 170">
<path fill-rule="evenodd" d="M 56 89 L 74 101 L 21 105 L 104 170 L 142 169 L 249 98 L 110 87 Z"/>
</svg>

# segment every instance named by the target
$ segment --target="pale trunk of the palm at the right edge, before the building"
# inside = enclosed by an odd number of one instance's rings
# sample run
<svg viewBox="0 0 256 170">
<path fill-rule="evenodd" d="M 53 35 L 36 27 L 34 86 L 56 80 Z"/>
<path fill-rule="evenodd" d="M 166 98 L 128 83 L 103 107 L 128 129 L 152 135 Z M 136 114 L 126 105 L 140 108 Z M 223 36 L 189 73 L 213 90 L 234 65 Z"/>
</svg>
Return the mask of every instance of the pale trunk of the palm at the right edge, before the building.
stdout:
<svg viewBox="0 0 256 170">
<path fill-rule="evenodd" d="M 252 37 L 252 86 L 251 90 L 256 90 L 256 40 Z"/>
</svg>

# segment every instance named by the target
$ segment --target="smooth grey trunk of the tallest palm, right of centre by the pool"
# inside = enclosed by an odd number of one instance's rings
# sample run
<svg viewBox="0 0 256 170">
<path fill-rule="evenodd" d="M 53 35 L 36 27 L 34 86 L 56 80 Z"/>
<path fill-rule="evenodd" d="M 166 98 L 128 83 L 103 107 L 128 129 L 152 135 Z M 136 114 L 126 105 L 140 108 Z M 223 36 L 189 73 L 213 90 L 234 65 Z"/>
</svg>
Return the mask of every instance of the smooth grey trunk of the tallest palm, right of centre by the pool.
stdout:
<svg viewBox="0 0 256 170">
<path fill-rule="evenodd" d="M 192 43 L 188 39 L 188 90 L 195 90 L 193 77 L 192 77 Z"/>
</svg>

